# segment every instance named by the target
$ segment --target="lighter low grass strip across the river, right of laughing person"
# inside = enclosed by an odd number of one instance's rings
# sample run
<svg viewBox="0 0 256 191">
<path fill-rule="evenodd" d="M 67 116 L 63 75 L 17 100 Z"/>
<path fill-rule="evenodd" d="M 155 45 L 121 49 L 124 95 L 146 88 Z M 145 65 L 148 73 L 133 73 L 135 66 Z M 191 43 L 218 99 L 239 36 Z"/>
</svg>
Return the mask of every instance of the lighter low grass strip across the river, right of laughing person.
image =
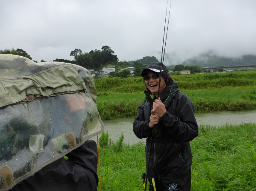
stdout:
<svg viewBox="0 0 256 191">
<path fill-rule="evenodd" d="M 256 85 L 184 90 L 195 111 L 242 111 L 256 109 Z"/>
</svg>

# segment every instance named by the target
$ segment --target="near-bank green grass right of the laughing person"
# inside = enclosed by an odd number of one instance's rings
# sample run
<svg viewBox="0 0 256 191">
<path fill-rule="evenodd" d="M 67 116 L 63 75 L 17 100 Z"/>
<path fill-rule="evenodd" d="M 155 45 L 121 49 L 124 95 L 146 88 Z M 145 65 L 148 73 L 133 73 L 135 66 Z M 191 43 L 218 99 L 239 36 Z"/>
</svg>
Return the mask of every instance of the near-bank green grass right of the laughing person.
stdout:
<svg viewBox="0 0 256 191">
<path fill-rule="evenodd" d="M 192 188 L 256 190 L 256 124 L 203 127 L 191 142 Z"/>
</svg>

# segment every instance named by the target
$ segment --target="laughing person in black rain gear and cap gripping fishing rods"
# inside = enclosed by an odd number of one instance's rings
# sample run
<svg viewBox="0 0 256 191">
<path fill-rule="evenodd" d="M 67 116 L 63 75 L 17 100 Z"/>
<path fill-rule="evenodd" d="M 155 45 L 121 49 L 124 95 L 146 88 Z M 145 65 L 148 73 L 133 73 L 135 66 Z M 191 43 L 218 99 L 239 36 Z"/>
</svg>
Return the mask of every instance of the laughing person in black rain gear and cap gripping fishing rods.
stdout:
<svg viewBox="0 0 256 191">
<path fill-rule="evenodd" d="M 146 99 L 139 105 L 133 131 L 138 138 L 147 138 L 149 191 L 190 191 L 189 142 L 198 135 L 194 106 L 189 97 L 179 92 L 165 65 L 161 70 L 161 63 L 151 63 L 141 75 Z"/>
</svg>

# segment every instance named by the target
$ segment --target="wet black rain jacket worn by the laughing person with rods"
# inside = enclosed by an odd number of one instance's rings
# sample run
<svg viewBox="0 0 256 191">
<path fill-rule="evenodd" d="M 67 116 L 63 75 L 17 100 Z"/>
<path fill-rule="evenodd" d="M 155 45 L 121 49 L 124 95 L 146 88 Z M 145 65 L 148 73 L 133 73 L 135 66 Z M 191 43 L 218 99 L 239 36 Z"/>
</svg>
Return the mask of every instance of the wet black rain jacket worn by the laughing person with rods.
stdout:
<svg viewBox="0 0 256 191">
<path fill-rule="evenodd" d="M 160 96 L 167 112 L 160 118 L 157 126 L 149 128 L 150 111 L 154 102 L 149 93 L 145 91 L 146 99 L 140 104 L 133 123 L 135 135 L 147 138 L 147 177 L 187 179 L 192 163 L 189 141 L 198 135 L 194 106 L 189 97 L 179 92 L 177 82 L 173 80 L 171 86 L 166 87 Z"/>
</svg>

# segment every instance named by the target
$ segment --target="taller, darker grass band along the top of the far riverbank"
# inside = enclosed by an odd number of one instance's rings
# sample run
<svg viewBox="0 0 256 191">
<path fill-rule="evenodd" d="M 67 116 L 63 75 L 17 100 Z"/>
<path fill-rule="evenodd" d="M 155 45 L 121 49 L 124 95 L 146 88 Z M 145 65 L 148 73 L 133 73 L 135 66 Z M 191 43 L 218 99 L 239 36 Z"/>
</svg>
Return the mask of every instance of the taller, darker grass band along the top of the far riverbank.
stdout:
<svg viewBox="0 0 256 191">
<path fill-rule="evenodd" d="M 171 76 L 179 83 L 180 89 L 220 88 L 224 86 L 256 85 L 256 72 L 211 73 Z M 140 92 L 145 85 L 142 77 L 104 77 L 95 79 L 98 91 Z"/>
</svg>

